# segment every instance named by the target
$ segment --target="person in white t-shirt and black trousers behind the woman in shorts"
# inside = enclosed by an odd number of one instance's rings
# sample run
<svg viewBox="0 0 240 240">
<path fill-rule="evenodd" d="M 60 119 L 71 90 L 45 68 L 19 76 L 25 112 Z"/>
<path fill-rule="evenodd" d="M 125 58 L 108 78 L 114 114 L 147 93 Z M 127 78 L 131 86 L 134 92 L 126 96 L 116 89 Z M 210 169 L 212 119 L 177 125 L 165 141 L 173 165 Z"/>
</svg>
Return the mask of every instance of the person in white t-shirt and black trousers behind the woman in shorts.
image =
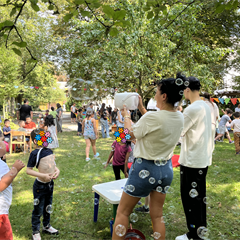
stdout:
<svg viewBox="0 0 240 240">
<path fill-rule="evenodd" d="M 188 78 L 184 96 L 190 100 L 183 112 L 184 128 L 180 163 L 181 198 L 189 232 L 176 240 L 205 239 L 206 175 L 212 164 L 213 133 L 209 106 L 199 96 L 200 81 Z"/>
</svg>

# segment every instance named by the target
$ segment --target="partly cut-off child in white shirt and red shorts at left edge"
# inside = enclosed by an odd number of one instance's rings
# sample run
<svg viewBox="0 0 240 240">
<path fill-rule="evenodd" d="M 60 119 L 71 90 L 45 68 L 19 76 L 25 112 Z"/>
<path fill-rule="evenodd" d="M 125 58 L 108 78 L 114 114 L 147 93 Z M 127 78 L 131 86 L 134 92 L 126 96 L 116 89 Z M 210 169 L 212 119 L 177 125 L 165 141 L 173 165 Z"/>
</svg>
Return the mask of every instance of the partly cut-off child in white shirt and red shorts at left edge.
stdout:
<svg viewBox="0 0 240 240">
<path fill-rule="evenodd" d="M 4 142 L 0 142 L 0 157 L 6 153 Z M 9 208 L 12 203 L 12 181 L 18 172 L 24 168 L 22 161 L 17 160 L 11 170 L 8 165 L 0 158 L 0 238 L 13 240 L 12 227 L 8 218 Z"/>
</svg>

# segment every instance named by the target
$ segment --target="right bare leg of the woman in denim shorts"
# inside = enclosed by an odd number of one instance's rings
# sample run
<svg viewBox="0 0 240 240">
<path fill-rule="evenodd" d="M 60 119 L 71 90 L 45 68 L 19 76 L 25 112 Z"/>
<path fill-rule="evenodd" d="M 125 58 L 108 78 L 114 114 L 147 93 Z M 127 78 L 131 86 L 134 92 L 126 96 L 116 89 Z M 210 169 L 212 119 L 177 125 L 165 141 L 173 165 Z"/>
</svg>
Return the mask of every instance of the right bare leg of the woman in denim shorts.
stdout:
<svg viewBox="0 0 240 240">
<path fill-rule="evenodd" d="M 163 221 L 163 204 L 166 194 L 152 191 L 150 193 L 150 216 L 153 223 L 153 232 L 161 234 L 159 240 L 165 239 L 165 224 Z M 156 238 L 157 239 L 157 238 Z"/>
</svg>

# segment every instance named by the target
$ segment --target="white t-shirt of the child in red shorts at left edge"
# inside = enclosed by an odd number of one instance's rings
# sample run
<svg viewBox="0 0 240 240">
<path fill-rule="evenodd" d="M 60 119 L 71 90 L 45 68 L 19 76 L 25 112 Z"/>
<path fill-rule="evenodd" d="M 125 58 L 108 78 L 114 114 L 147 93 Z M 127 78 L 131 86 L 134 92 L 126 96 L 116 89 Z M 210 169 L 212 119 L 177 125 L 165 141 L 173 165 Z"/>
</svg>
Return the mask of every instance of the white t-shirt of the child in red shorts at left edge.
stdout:
<svg viewBox="0 0 240 240">
<path fill-rule="evenodd" d="M 0 160 L 0 180 L 9 172 L 8 165 Z M 10 184 L 5 190 L 0 192 L 0 215 L 8 214 L 9 208 L 12 203 L 12 184 Z"/>
</svg>

